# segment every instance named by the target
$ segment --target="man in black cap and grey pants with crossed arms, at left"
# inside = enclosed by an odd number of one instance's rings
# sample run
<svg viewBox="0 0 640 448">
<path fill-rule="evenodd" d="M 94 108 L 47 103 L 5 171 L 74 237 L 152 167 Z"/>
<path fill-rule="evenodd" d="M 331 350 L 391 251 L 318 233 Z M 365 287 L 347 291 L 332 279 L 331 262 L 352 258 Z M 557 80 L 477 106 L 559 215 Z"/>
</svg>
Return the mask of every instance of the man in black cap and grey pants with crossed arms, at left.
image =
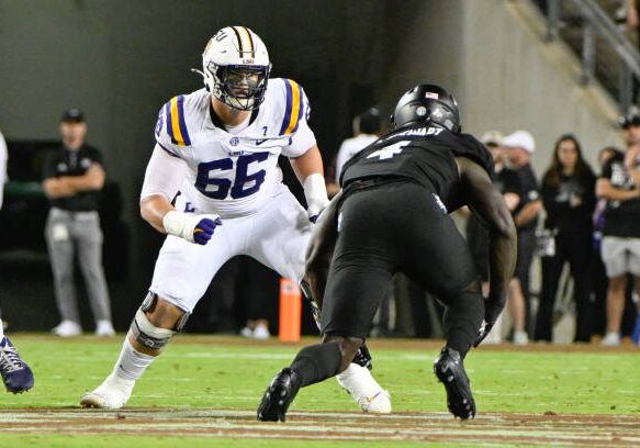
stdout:
<svg viewBox="0 0 640 448">
<path fill-rule="evenodd" d="M 75 253 L 96 318 L 96 335 L 115 334 L 102 269 L 102 231 L 97 211 L 104 169 L 100 152 L 85 144 L 86 134 L 82 112 L 65 111 L 60 119 L 61 146 L 44 165 L 43 188 L 50 203 L 45 237 L 61 316 L 53 333 L 63 337 L 82 333 L 74 281 Z"/>
</svg>

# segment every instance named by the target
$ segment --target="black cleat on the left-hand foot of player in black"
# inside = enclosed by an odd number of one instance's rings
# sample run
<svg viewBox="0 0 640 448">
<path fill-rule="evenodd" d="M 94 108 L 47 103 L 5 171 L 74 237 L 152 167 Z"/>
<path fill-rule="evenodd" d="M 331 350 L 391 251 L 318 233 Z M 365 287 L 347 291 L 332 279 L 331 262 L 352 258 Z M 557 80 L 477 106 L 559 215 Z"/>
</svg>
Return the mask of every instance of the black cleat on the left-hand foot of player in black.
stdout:
<svg viewBox="0 0 640 448">
<path fill-rule="evenodd" d="M 265 391 L 262 402 L 258 406 L 258 419 L 261 422 L 284 422 L 287 419 L 287 410 L 297 391 L 300 390 L 300 380 L 297 374 L 285 367 L 271 380 L 271 383 Z"/>
</svg>

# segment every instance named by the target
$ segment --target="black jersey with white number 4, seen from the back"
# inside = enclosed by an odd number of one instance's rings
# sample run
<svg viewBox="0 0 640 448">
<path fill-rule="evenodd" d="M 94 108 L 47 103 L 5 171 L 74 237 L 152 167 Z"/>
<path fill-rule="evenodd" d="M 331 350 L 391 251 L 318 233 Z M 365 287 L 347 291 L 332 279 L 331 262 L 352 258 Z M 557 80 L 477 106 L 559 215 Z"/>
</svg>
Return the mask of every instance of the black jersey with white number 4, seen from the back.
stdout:
<svg viewBox="0 0 640 448">
<path fill-rule="evenodd" d="M 371 178 L 400 178 L 438 194 L 449 212 L 464 205 L 456 157 L 467 157 L 493 177 L 493 159 L 469 134 L 417 125 L 394 131 L 353 156 L 343 169 L 340 186 Z"/>
</svg>

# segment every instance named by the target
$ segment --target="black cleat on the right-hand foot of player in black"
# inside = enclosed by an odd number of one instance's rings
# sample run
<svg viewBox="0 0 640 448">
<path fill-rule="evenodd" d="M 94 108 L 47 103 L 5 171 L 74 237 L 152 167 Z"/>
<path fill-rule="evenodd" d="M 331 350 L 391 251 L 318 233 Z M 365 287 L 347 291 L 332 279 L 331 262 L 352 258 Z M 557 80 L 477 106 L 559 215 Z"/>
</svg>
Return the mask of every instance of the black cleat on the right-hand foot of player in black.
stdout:
<svg viewBox="0 0 640 448">
<path fill-rule="evenodd" d="M 475 417 L 475 402 L 460 354 L 449 347 L 442 348 L 434 361 L 434 373 L 445 384 L 449 412 L 461 419 Z"/>
</svg>

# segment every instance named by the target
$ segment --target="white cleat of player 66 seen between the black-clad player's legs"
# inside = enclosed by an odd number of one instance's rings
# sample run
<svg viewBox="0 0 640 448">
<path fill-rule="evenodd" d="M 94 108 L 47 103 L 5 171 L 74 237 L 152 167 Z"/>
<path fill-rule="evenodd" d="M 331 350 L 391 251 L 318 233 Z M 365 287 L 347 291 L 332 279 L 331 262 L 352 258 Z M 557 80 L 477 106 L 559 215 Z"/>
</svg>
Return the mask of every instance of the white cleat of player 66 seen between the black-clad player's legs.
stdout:
<svg viewBox="0 0 640 448">
<path fill-rule="evenodd" d="M 374 414 L 391 413 L 391 395 L 378 384 L 366 367 L 351 362 L 336 377 L 338 384 L 349 392 L 362 412 Z"/>
</svg>

